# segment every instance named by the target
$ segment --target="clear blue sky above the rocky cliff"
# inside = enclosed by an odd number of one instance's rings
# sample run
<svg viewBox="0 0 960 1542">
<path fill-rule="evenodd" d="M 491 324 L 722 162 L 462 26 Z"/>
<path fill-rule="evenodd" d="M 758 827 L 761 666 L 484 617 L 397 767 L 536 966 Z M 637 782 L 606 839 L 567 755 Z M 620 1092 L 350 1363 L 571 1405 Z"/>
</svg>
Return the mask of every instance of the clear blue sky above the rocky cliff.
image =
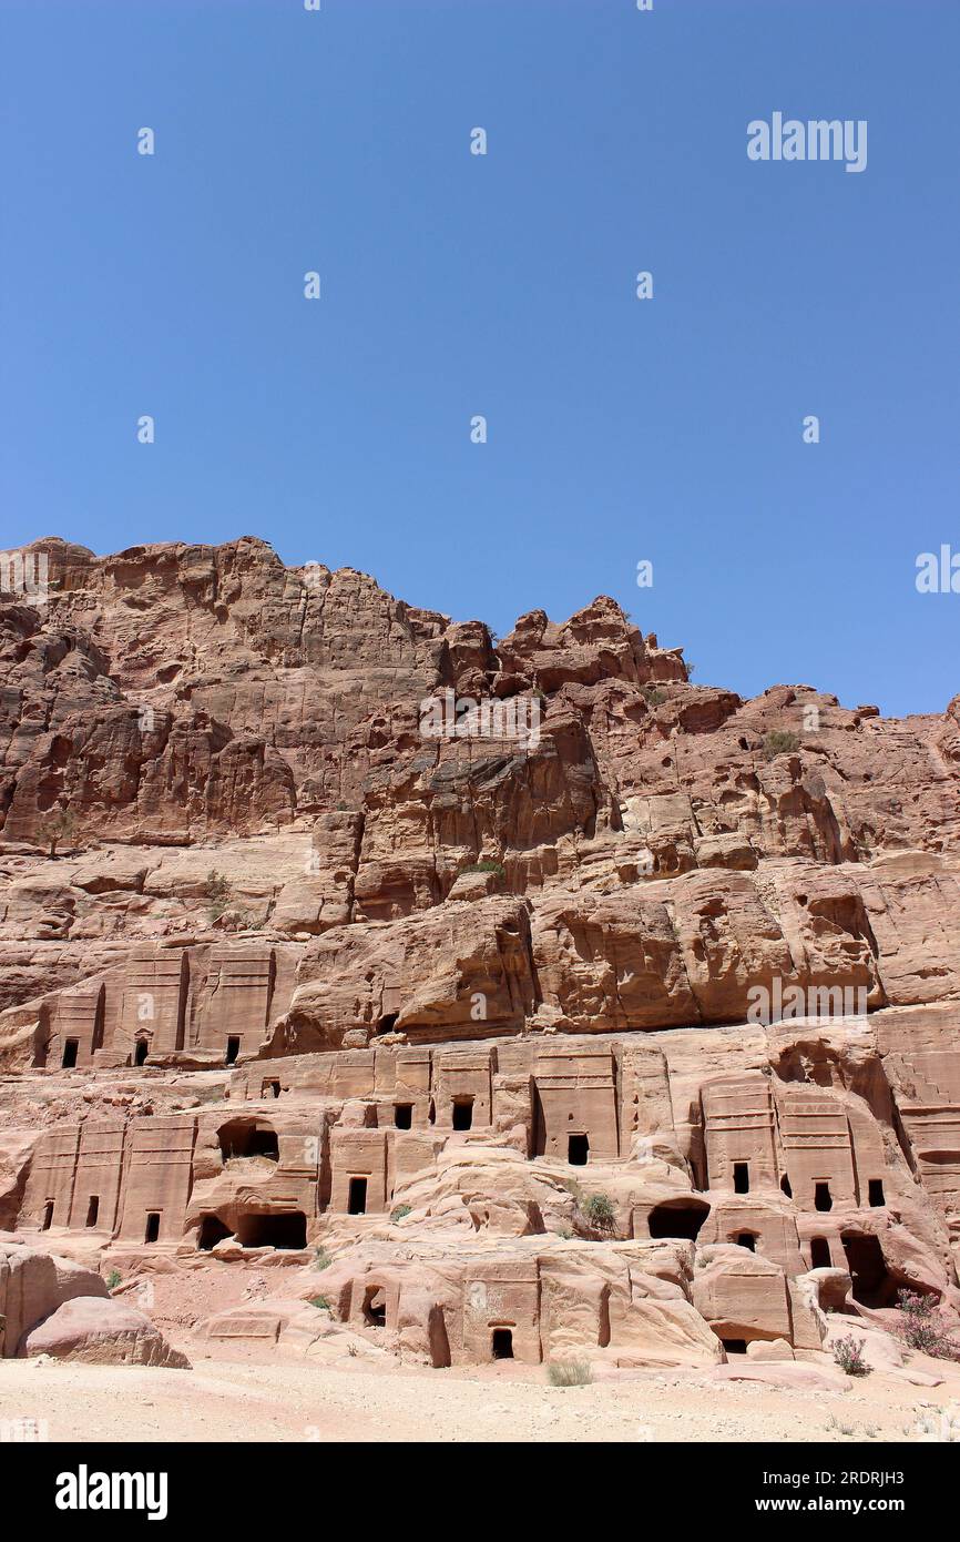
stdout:
<svg viewBox="0 0 960 1542">
<path fill-rule="evenodd" d="M 957 0 L 0 0 L 0 546 L 607 592 L 698 682 L 942 711 L 958 57 Z M 866 171 L 747 160 L 774 111 Z"/>
</svg>

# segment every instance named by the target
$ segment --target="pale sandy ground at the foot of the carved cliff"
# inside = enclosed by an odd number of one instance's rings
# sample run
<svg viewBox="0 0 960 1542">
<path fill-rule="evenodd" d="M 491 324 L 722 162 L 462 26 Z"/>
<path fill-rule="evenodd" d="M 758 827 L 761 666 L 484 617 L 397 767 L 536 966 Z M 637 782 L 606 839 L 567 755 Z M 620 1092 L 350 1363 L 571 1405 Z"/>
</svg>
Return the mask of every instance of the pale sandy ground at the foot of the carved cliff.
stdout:
<svg viewBox="0 0 960 1542">
<path fill-rule="evenodd" d="M 917 1440 L 960 1394 L 884 1372 L 848 1391 L 713 1383 L 697 1372 L 553 1388 L 542 1368 L 367 1371 L 304 1360 L 202 1359 L 193 1371 L 0 1360 L 0 1420 L 49 1440 L 883 1442 Z"/>
</svg>

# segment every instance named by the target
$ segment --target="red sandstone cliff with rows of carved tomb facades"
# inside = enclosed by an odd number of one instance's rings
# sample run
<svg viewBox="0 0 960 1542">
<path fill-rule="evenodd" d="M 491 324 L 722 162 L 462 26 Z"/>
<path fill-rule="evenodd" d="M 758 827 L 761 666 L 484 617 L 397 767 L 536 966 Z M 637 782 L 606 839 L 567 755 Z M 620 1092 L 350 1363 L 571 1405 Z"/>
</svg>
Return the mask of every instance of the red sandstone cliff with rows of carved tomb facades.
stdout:
<svg viewBox="0 0 960 1542">
<path fill-rule="evenodd" d="M 960 697 L 743 702 L 609 598 L 495 645 L 254 538 L 37 544 L 0 1226 L 185 1289 L 296 1263 L 208 1332 L 302 1352 L 792 1360 L 903 1286 L 955 1321 Z M 22 1257 L 17 1343 L 174 1363 Z"/>
</svg>

